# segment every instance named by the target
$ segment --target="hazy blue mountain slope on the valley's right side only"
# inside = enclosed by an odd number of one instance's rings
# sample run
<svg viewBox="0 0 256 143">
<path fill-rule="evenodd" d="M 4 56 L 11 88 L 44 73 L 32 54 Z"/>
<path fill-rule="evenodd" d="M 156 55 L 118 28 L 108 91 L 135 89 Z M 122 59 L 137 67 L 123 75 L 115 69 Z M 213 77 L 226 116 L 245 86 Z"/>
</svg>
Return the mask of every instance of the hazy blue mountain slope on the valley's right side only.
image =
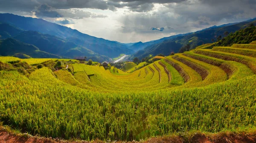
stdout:
<svg viewBox="0 0 256 143">
<path fill-rule="evenodd" d="M 168 56 L 171 52 L 179 52 L 180 48 L 187 44 L 190 45 L 190 49 L 193 49 L 198 45 L 216 42 L 219 36 L 227 36 L 224 34 L 226 31 L 228 33 L 233 33 L 235 31 L 248 27 L 252 23 L 256 25 L 256 18 L 244 22 L 228 23 L 219 26 L 215 25 L 201 31 L 191 32 L 187 34 L 179 34 L 151 41 L 151 44 L 145 46 L 142 50 L 138 50 L 130 57 L 130 59 L 133 59 L 134 57 L 142 59 L 146 56 L 156 56 L 160 53 Z M 147 43 L 150 42 L 146 42 L 145 45 Z M 141 46 L 143 45 L 143 43 L 140 42 L 139 45 Z"/>
</svg>

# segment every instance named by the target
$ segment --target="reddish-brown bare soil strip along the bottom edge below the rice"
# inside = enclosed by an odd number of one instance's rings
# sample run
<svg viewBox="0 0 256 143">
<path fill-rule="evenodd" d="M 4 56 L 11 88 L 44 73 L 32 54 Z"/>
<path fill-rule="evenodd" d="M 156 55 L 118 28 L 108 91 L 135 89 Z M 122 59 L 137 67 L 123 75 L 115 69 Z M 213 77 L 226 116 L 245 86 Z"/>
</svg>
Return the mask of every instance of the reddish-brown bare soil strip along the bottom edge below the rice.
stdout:
<svg viewBox="0 0 256 143">
<path fill-rule="evenodd" d="M 252 133 L 217 133 L 211 135 L 204 135 L 202 133 L 195 133 L 191 137 L 183 137 L 179 135 L 152 137 L 148 140 L 141 141 L 110 141 L 103 142 L 102 140 L 94 141 L 69 141 L 61 139 L 53 139 L 46 137 L 32 136 L 28 134 L 15 134 L 8 132 L 6 129 L 0 127 L 0 143 L 256 143 L 256 132 Z"/>
</svg>

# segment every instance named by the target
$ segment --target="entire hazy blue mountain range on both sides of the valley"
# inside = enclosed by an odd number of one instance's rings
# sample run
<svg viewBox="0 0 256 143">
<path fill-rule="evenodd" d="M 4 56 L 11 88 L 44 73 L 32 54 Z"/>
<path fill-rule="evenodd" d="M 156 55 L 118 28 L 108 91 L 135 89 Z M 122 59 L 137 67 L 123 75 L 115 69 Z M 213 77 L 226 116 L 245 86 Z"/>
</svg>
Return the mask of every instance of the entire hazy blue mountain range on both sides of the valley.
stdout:
<svg viewBox="0 0 256 143">
<path fill-rule="evenodd" d="M 75 29 L 46 20 L 0 14 L 0 55 L 33 58 L 69 58 L 87 56 L 93 61 L 109 61 L 120 54 L 131 55 L 130 59 L 142 59 L 148 55 L 177 53 L 181 47 L 191 48 L 215 42 L 218 36 L 235 32 L 256 23 L 256 19 L 244 22 L 212 26 L 187 34 L 178 34 L 149 42 L 120 43 L 83 34 Z"/>
</svg>

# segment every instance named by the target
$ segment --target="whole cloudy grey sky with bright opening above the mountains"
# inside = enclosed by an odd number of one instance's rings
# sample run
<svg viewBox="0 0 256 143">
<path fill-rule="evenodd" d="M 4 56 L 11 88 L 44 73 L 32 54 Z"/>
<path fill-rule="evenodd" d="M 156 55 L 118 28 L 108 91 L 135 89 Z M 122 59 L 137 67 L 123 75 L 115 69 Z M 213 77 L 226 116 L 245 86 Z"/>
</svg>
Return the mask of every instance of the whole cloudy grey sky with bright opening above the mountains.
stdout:
<svg viewBox="0 0 256 143">
<path fill-rule="evenodd" d="M 0 13 L 128 43 L 254 18 L 256 0 L 0 0 Z"/>
</svg>

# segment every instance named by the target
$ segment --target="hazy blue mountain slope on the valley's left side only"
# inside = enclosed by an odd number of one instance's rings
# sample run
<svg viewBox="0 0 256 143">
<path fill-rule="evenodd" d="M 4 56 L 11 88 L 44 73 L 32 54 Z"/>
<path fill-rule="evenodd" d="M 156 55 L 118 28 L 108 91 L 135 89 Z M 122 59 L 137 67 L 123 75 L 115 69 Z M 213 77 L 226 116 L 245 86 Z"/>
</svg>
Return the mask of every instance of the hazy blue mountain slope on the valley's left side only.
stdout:
<svg viewBox="0 0 256 143">
<path fill-rule="evenodd" d="M 62 58 L 87 56 L 95 61 L 105 61 L 122 53 L 134 53 L 126 45 L 83 34 L 38 18 L 0 14 L 0 30 L 0 39 L 13 38 L 35 45 L 41 51 L 58 54 Z"/>
</svg>

